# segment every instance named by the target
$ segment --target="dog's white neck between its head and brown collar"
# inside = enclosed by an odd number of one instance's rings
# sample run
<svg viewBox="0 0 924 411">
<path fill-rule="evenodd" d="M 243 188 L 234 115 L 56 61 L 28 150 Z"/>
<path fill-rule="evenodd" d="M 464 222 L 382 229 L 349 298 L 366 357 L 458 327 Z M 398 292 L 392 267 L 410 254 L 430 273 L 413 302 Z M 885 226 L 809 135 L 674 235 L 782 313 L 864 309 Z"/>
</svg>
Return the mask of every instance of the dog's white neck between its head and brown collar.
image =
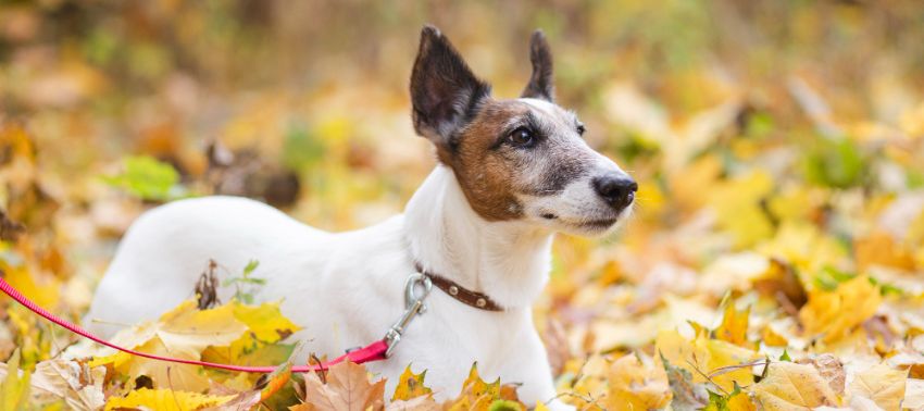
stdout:
<svg viewBox="0 0 924 411">
<path fill-rule="evenodd" d="M 426 271 L 508 310 L 532 306 L 548 278 L 552 234 L 523 222 L 482 219 L 441 164 L 408 203 L 404 235 L 411 257 Z"/>
</svg>

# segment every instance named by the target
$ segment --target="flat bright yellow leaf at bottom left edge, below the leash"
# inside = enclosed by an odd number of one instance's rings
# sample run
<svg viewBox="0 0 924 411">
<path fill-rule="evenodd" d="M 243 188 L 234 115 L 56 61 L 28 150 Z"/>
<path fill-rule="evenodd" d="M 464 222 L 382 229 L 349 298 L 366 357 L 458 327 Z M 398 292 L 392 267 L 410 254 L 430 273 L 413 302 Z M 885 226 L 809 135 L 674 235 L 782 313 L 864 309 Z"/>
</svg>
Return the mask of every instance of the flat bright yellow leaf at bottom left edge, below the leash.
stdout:
<svg viewBox="0 0 924 411">
<path fill-rule="evenodd" d="M 221 406 L 234 397 L 207 396 L 198 393 L 174 391 L 171 389 L 141 388 L 128 393 L 124 398 L 110 398 L 105 403 L 105 410 L 145 407 L 158 411 L 189 411 Z"/>
</svg>

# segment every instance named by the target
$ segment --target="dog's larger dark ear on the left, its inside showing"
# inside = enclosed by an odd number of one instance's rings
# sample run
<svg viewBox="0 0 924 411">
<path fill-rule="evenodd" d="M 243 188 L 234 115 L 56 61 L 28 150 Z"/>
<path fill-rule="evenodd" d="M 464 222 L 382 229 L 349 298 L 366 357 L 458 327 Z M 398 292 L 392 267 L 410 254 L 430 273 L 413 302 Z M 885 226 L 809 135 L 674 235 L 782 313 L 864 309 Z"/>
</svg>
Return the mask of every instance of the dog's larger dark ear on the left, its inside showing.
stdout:
<svg viewBox="0 0 924 411">
<path fill-rule="evenodd" d="M 479 80 L 439 29 L 426 25 L 411 74 L 414 130 L 452 146 L 454 132 L 472 120 L 490 86 Z"/>
</svg>

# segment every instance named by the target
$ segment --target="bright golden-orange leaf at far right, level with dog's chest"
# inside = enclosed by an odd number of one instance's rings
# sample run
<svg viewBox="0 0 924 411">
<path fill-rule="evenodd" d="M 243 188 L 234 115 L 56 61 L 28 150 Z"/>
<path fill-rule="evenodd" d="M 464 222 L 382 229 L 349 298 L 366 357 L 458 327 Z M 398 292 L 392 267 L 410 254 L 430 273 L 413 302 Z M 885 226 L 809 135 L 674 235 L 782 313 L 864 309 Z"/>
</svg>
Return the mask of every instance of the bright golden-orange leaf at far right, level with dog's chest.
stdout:
<svg viewBox="0 0 924 411">
<path fill-rule="evenodd" d="M 834 291 L 809 291 L 809 302 L 799 310 L 799 321 L 807 336 L 823 335 L 825 342 L 832 342 L 873 316 L 882 300 L 878 287 L 865 275 L 859 275 Z"/>
</svg>

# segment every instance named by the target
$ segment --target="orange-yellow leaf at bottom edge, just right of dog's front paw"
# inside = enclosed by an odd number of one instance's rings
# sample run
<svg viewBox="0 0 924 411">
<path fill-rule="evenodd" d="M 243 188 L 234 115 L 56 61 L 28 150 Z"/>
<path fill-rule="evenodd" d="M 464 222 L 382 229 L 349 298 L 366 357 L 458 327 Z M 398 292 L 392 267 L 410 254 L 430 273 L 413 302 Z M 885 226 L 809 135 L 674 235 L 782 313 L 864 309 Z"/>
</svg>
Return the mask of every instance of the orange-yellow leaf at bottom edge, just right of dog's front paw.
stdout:
<svg viewBox="0 0 924 411">
<path fill-rule="evenodd" d="M 613 362 L 609 382 L 609 410 L 653 410 L 671 402 L 664 366 L 642 352 L 623 356 Z"/>
</svg>

